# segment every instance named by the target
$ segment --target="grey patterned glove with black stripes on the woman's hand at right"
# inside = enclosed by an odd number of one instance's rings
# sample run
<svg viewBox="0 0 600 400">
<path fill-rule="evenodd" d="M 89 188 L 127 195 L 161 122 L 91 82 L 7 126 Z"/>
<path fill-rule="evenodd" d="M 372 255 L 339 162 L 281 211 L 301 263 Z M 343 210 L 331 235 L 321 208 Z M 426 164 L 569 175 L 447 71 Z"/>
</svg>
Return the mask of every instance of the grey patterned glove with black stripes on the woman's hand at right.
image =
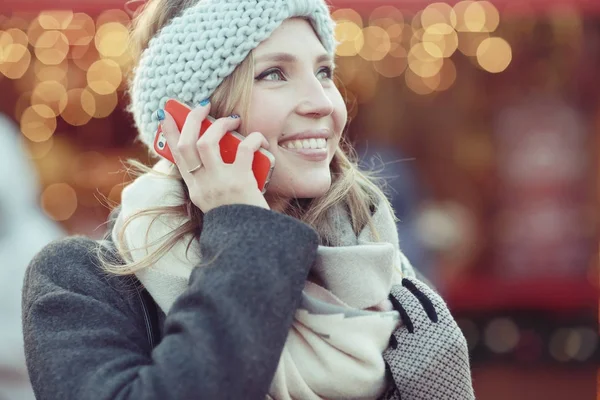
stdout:
<svg viewBox="0 0 600 400">
<path fill-rule="evenodd" d="M 385 398 L 475 399 L 467 342 L 444 300 L 412 278 L 394 286 L 390 300 L 403 324 L 383 353 L 396 386 Z"/>
</svg>

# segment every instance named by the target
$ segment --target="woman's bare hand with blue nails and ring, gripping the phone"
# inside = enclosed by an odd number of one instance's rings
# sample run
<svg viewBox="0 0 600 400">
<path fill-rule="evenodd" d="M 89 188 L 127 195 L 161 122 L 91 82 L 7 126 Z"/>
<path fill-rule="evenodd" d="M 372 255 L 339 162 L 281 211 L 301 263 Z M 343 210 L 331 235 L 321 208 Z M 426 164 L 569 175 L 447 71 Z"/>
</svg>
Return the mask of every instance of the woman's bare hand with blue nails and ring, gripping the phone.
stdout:
<svg viewBox="0 0 600 400">
<path fill-rule="evenodd" d="M 190 193 L 202 212 L 228 204 L 248 204 L 269 209 L 252 172 L 254 153 L 269 143 L 259 132 L 249 134 L 238 146 L 233 164 L 221 158 L 219 142 L 226 132 L 240 126 L 239 116 L 216 120 L 198 139 L 200 125 L 208 116 L 210 104 L 193 109 L 181 131 L 165 112 L 162 130 L 173 158 Z"/>
</svg>

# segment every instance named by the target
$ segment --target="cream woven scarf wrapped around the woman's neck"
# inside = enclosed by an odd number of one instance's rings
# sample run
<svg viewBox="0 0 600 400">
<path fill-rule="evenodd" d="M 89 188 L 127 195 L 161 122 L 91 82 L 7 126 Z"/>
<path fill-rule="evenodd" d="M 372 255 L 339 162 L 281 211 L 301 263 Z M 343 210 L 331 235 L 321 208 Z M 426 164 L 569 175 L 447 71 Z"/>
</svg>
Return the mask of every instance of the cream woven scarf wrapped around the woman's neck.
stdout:
<svg viewBox="0 0 600 400">
<path fill-rule="evenodd" d="M 171 164 L 154 167 L 172 173 Z M 181 183 L 147 173 L 128 185 L 122 194 L 121 213 L 113 228 L 134 213 L 154 207 L 179 205 Z M 184 218 L 138 217 L 124 232 L 124 245 L 133 260 L 152 252 Z M 387 389 L 382 353 L 399 325 L 398 313 L 387 299 L 390 288 L 401 277 L 414 276 L 412 267 L 398 248 L 398 236 L 387 207 L 374 216 L 380 241 L 368 228 L 358 237 L 347 213 L 335 208 L 330 219 L 339 232 L 341 246 L 320 246 L 312 272 L 323 287 L 308 282 L 302 293 L 283 349 L 269 396 L 275 400 L 377 399 Z M 186 288 L 192 269 L 200 263 L 199 245 L 181 241 L 156 264 L 136 275 L 159 307 L 168 313 Z"/>
</svg>

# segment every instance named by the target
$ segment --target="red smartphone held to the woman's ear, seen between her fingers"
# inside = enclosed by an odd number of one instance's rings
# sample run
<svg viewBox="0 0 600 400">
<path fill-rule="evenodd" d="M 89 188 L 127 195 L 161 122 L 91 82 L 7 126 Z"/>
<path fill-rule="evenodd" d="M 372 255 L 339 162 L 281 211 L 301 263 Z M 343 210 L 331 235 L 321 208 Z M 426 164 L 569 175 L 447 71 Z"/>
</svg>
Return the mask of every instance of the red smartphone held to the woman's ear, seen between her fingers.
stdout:
<svg viewBox="0 0 600 400">
<path fill-rule="evenodd" d="M 181 132 L 183 129 L 183 124 L 185 123 L 185 119 L 187 118 L 191 109 L 187 105 L 180 103 L 177 100 L 170 99 L 167 100 L 167 103 L 165 104 L 165 111 L 173 116 L 173 119 L 175 119 L 175 123 L 177 124 L 177 128 Z M 202 121 L 198 137 L 202 136 L 213 122 L 214 119 L 210 116 Z M 221 149 L 221 158 L 225 163 L 233 164 L 235 161 L 235 155 L 237 154 L 237 148 L 242 140 L 244 140 L 244 136 L 235 131 L 227 132 L 225 136 L 223 136 L 219 142 L 219 147 Z M 156 137 L 154 139 L 154 150 L 161 157 L 166 158 L 175 164 L 173 154 L 171 153 L 171 149 L 167 144 L 167 139 L 162 133 L 160 125 L 158 126 Z M 267 190 L 267 185 L 271 179 L 271 174 L 273 173 L 274 167 L 275 157 L 273 154 L 269 153 L 265 149 L 258 149 L 258 151 L 254 153 L 252 172 L 254 173 L 256 182 L 258 183 L 258 188 L 262 193 Z"/>
</svg>

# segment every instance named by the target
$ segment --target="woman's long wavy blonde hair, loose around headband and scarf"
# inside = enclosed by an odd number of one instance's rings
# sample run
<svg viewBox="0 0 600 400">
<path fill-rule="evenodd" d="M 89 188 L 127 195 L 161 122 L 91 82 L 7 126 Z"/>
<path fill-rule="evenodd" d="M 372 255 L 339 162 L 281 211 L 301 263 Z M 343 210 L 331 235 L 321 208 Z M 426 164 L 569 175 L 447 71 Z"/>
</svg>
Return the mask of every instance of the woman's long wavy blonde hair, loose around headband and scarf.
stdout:
<svg viewBox="0 0 600 400">
<path fill-rule="evenodd" d="M 134 52 L 134 60 L 139 60 L 148 42 L 171 18 L 185 7 L 193 4 L 196 0 L 149 0 L 133 19 L 131 28 L 131 48 Z M 135 70 L 134 70 L 135 71 Z M 133 72 L 135 73 L 135 72 Z M 131 78 L 131 77 L 130 77 Z M 211 114 L 215 118 L 230 115 L 235 107 L 242 110 L 242 116 L 247 113 L 250 103 L 250 95 L 254 82 L 254 60 L 252 53 L 228 76 L 211 96 Z M 325 245 L 339 245 L 334 229 L 329 225 L 328 211 L 337 204 L 343 204 L 347 209 L 353 230 L 358 234 L 365 227 L 369 227 L 377 238 L 378 234 L 372 223 L 372 214 L 376 206 L 391 206 L 377 184 L 376 178 L 361 171 L 356 163 L 356 154 L 345 141 L 335 151 L 330 164 L 332 183 L 329 190 L 319 198 L 296 199 L 284 211 L 286 214 L 312 226 L 320 237 L 320 242 Z M 135 174 L 156 173 L 147 166 L 129 161 Z M 203 213 L 195 207 L 183 180 L 178 179 L 182 186 L 184 198 L 182 205 L 175 207 L 160 207 L 144 210 L 128 217 L 117 232 L 115 246 L 125 264 L 115 259 L 101 256 L 100 262 L 103 268 L 118 275 L 128 275 L 143 268 L 153 265 L 158 259 L 170 251 L 173 246 L 186 237 L 197 239 L 202 231 Z M 393 215 L 393 213 L 392 213 Z M 154 221 L 164 216 L 184 216 L 186 223 L 174 230 L 169 237 L 160 238 L 160 243 L 147 243 L 147 246 L 160 244 L 158 248 L 140 260 L 132 260 L 130 252 L 124 244 L 124 232 L 127 226 L 141 216 L 153 216 Z M 190 235 L 191 234 L 191 235 Z M 188 248 L 189 245 L 188 243 Z M 136 249 L 137 250 L 137 249 Z"/>
</svg>

